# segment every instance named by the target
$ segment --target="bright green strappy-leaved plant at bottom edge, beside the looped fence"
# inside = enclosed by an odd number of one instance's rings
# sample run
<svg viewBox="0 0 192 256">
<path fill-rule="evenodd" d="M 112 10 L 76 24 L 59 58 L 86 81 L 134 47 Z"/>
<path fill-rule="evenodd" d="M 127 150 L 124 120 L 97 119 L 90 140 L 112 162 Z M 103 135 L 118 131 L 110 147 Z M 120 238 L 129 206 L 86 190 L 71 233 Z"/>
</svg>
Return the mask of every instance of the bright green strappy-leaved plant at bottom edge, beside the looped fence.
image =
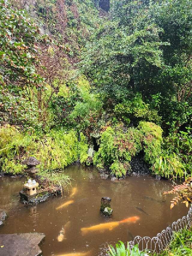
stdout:
<svg viewBox="0 0 192 256">
<path fill-rule="evenodd" d="M 124 243 L 122 241 L 119 241 L 119 243 L 116 243 L 116 250 L 115 248 L 113 248 L 112 245 L 109 246 L 108 255 L 109 256 L 145 256 L 147 254 L 139 250 L 138 244 L 134 245 L 134 247 L 131 249 L 131 252 L 130 252 L 129 244 L 127 245 L 127 248 L 125 248 Z"/>
</svg>

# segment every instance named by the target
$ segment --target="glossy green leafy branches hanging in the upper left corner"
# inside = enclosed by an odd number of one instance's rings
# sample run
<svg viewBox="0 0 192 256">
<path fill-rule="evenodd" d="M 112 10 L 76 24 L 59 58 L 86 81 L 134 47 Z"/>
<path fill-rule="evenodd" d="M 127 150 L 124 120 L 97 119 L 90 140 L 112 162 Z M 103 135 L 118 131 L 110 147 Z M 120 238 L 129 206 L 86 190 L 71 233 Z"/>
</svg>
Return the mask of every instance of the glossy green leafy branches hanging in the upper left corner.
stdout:
<svg viewBox="0 0 192 256">
<path fill-rule="evenodd" d="M 12 9 L 6 0 L 0 4 L 0 82 L 7 86 L 41 87 L 43 79 L 35 73 L 34 66 L 38 26 L 26 11 Z"/>
</svg>

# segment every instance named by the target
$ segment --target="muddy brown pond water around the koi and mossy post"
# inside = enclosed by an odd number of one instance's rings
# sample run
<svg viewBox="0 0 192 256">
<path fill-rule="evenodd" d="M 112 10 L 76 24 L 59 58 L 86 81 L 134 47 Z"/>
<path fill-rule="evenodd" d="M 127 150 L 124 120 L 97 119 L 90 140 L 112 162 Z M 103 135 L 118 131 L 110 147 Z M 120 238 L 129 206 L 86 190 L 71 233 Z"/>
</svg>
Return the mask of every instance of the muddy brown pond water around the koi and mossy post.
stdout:
<svg viewBox="0 0 192 256">
<path fill-rule="evenodd" d="M 184 204 L 170 210 L 172 195 L 163 195 L 164 191 L 171 189 L 172 184 L 167 180 L 130 176 L 111 182 L 110 179 L 102 180 L 94 167 L 80 165 L 67 167 L 64 172 L 74 179 L 72 187 L 77 189 L 73 198 L 70 197 L 69 188 L 69 193 L 62 198 L 50 198 L 34 206 L 26 206 L 19 201 L 19 191 L 26 178 L 1 177 L 0 209 L 7 211 L 8 218 L 0 227 L 0 233 L 45 233 L 45 241 L 41 245 L 44 256 L 75 255 L 77 252 L 90 256 L 106 255 L 108 244 L 115 245 L 118 240 L 127 243 L 137 235 L 156 236 L 173 221 L 187 214 Z M 111 218 L 104 217 L 99 210 L 103 196 L 112 199 Z M 68 200 L 74 202 L 56 210 Z M 121 221 L 132 216 L 140 219 L 135 223 L 121 223 L 112 230 L 100 228 L 87 233 L 81 231 L 83 227 Z M 58 242 L 59 232 L 67 222 L 65 239 Z"/>
</svg>

